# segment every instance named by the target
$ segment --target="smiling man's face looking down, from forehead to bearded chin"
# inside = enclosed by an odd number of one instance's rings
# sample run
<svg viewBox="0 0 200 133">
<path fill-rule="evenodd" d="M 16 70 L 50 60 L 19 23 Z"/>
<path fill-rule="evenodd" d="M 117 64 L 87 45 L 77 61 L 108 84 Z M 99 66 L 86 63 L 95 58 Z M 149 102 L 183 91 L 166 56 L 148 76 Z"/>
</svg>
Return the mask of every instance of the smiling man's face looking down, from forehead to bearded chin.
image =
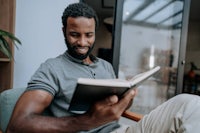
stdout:
<svg viewBox="0 0 200 133">
<path fill-rule="evenodd" d="M 87 58 L 95 42 L 94 18 L 69 17 L 63 31 L 69 54 L 81 60 Z"/>
</svg>

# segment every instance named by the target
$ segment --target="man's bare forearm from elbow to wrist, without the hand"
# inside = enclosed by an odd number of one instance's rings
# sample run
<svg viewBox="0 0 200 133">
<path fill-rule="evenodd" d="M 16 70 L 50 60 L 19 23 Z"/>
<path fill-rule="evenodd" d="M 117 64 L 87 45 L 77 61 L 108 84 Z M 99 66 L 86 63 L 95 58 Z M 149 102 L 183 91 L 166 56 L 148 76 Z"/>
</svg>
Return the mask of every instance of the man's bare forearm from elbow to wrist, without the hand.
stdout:
<svg viewBox="0 0 200 133">
<path fill-rule="evenodd" d="M 89 129 L 87 115 L 59 118 L 31 115 L 9 124 L 7 133 L 72 133 Z"/>
</svg>

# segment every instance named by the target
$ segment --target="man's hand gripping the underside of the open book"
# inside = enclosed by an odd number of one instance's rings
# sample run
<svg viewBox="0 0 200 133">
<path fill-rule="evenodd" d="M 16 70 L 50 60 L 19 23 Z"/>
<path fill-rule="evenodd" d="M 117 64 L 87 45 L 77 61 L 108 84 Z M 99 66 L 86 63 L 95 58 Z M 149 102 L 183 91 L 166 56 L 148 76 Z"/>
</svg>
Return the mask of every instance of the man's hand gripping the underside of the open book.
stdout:
<svg viewBox="0 0 200 133">
<path fill-rule="evenodd" d="M 118 120 L 123 112 L 130 106 L 135 97 L 135 90 L 131 89 L 119 99 L 116 95 L 98 101 L 85 114 L 91 128 L 98 127 L 111 121 Z"/>
</svg>

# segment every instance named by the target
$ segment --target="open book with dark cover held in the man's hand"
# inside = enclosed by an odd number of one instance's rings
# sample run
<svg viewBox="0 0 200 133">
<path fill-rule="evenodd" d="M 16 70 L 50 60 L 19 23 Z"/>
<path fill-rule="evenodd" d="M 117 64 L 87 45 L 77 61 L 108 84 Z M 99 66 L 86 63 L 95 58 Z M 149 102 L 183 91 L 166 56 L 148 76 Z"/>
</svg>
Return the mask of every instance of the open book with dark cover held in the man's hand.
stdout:
<svg viewBox="0 0 200 133">
<path fill-rule="evenodd" d="M 130 80 L 79 78 L 68 110 L 80 114 L 87 111 L 97 100 L 110 95 L 117 95 L 120 98 L 127 90 L 138 86 L 159 70 L 160 66 L 157 66 Z"/>
</svg>

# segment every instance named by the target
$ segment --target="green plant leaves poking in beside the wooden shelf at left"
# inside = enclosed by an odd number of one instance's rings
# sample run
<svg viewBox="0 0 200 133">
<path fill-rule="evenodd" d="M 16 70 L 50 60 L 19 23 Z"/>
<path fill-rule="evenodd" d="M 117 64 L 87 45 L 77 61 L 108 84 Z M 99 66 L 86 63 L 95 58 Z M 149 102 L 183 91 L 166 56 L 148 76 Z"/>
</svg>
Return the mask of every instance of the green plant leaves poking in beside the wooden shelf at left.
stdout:
<svg viewBox="0 0 200 133">
<path fill-rule="evenodd" d="M 0 29 L 0 51 L 5 54 L 9 59 L 13 58 L 12 50 L 9 45 L 9 40 L 16 47 L 16 44 L 21 44 L 20 40 L 15 37 L 12 33 Z"/>
</svg>

